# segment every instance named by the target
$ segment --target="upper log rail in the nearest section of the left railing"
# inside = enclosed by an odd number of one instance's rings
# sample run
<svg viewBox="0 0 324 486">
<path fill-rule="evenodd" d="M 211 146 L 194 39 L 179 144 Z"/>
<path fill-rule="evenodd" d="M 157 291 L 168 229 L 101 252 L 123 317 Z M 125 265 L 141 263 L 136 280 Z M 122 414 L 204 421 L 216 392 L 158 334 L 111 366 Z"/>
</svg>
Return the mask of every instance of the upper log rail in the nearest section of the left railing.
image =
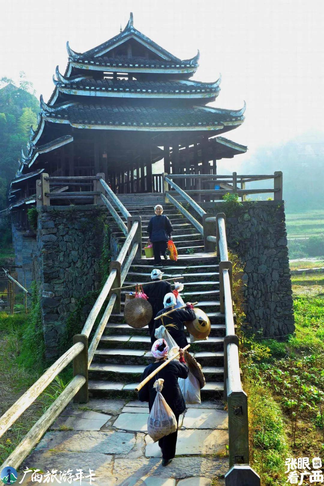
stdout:
<svg viewBox="0 0 324 486">
<path fill-rule="evenodd" d="M 82 343 L 74 344 L 0 417 L 0 437 L 12 426 L 18 417 L 48 387 L 54 378 L 83 350 Z"/>
</svg>

